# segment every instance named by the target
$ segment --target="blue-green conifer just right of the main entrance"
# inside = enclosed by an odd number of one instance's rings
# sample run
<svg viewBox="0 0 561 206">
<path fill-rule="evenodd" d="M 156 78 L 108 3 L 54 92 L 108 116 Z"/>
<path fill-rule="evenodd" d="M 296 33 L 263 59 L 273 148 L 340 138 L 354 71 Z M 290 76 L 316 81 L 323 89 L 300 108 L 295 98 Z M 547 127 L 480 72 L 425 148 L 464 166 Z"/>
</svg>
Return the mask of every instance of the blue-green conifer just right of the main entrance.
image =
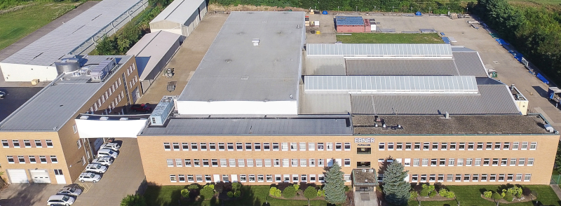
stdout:
<svg viewBox="0 0 561 206">
<path fill-rule="evenodd" d="M 384 171 L 384 196 L 393 205 L 405 205 L 411 197 L 411 186 L 405 180 L 407 172 L 401 163 L 393 161 Z"/>
</svg>

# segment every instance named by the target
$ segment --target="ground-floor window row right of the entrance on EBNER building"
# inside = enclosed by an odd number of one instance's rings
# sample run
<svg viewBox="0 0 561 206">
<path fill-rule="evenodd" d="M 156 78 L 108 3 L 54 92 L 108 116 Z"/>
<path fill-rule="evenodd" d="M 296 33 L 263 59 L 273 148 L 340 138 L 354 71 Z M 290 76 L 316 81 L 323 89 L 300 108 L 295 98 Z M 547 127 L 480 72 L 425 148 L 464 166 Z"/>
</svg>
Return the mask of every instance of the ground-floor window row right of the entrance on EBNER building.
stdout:
<svg viewBox="0 0 561 206">
<path fill-rule="evenodd" d="M 447 174 L 446 181 L 522 181 L 522 176 L 524 181 L 532 179 L 532 174 Z M 444 174 L 411 174 L 411 181 L 444 181 Z"/>
</svg>

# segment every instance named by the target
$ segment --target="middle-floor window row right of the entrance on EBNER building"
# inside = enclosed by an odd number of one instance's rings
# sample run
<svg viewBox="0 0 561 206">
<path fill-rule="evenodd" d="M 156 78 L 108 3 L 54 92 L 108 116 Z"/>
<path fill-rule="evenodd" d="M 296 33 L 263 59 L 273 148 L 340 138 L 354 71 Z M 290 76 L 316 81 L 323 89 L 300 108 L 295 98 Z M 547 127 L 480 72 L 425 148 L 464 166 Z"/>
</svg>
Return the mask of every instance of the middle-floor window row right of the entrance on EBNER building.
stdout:
<svg viewBox="0 0 561 206">
<path fill-rule="evenodd" d="M 401 158 L 396 158 L 401 163 Z M 384 159 L 379 159 L 378 162 L 384 162 Z M 403 165 L 405 167 L 431 165 L 435 166 L 533 166 L 534 158 L 404 158 Z"/>
</svg>

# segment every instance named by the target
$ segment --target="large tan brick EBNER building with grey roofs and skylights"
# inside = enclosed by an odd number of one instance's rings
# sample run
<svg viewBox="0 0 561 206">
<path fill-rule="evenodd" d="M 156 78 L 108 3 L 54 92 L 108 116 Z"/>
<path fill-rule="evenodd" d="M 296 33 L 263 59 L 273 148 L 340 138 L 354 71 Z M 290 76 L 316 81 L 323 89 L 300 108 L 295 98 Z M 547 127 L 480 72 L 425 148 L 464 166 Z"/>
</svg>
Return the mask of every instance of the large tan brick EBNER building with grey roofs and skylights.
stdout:
<svg viewBox="0 0 561 206">
<path fill-rule="evenodd" d="M 319 184 L 337 162 L 351 184 L 355 169 L 381 181 L 398 161 L 412 183 L 549 184 L 558 132 L 522 115 L 476 51 L 307 44 L 300 60 L 304 15 L 231 13 L 182 95 L 137 136 L 147 181 Z"/>
</svg>

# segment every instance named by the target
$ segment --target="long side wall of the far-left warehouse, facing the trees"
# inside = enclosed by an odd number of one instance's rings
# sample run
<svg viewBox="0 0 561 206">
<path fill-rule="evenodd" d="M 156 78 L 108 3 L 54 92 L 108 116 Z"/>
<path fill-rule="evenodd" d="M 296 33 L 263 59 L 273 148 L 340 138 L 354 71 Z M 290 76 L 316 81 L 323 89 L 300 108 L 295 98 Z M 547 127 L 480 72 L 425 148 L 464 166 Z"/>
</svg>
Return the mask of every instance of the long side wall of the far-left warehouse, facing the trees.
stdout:
<svg viewBox="0 0 561 206">
<path fill-rule="evenodd" d="M 134 6 L 128 8 L 126 12 L 119 15 L 118 18 L 115 18 L 115 20 L 109 23 L 109 25 L 103 27 L 103 29 L 100 29 L 99 32 L 90 36 L 90 38 L 84 41 L 80 46 L 74 48 L 74 50 L 72 50 L 69 54 L 87 55 L 88 53 L 90 53 L 95 49 L 95 46 L 97 46 L 97 41 L 102 39 L 104 36 L 111 36 L 115 34 L 117 31 L 119 31 L 119 29 L 124 27 L 128 22 L 133 20 L 133 18 L 135 18 L 136 15 L 144 11 L 144 8 L 147 8 L 147 6 L 148 6 L 148 0 L 139 1 Z"/>
</svg>

